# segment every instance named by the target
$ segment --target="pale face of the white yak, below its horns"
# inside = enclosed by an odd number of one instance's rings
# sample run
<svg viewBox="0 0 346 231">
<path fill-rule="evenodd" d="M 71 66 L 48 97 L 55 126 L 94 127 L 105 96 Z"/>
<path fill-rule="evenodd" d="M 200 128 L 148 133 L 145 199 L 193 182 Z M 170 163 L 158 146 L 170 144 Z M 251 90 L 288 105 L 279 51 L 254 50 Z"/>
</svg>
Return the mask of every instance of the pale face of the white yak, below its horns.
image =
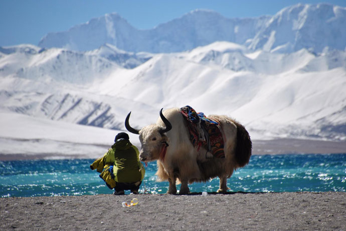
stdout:
<svg viewBox="0 0 346 231">
<path fill-rule="evenodd" d="M 160 134 L 160 129 L 157 125 L 149 125 L 140 130 L 140 161 L 153 161 L 159 158 L 162 142 L 167 141 L 167 138 Z"/>
</svg>

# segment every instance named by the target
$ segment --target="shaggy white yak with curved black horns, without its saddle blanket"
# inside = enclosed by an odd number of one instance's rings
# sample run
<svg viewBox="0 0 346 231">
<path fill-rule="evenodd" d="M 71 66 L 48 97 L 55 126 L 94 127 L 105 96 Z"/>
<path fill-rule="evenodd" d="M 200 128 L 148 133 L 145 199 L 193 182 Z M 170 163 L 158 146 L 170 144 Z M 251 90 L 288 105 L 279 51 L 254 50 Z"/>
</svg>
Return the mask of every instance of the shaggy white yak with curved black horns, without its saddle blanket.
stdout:
<svg viewBox="0 0 346 231">
<path fill-rule="evenodd" d="M 190 192 L 188 183 L 205 182 L 212 178 L 220 178 L 217 192 L 225 193 L 227 178 L 233 171 L 249 163 L 252 143 L 244 126 L 227 116 L 211 115 L 208 118 L 219 123 L 224 138 L 225 158 L 206 159 L 207 150 L 197 150 L 190 141 L 186 120 L 180 108 L 170 108 L 162 113 L 156 124 L 143 127 L 141 130 L 129 125 L 128 113 L 125 120 L 126 129 L 139 135 L 141 150 L 140 161 L 157 160 L 159 180 L 168 180 L 167 193 L 176 194 L 177 179 L 181 182 L 179 194 Z"/>
</svg>

